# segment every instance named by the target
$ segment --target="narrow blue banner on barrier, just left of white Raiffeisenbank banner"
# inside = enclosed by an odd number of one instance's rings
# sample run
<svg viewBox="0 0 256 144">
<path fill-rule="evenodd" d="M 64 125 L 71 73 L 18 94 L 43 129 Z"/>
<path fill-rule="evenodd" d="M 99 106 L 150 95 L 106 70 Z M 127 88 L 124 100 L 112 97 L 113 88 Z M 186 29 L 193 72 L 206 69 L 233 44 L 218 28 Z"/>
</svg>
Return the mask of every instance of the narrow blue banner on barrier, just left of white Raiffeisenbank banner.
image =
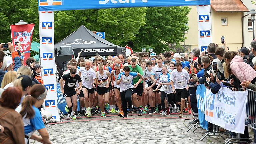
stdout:
<svg viewBox="0 0 256 144">
<path fill-rule="evenodd" d="M 206 88 L 203 84 L 198 85 L 196 89 L 196 99 L 197 99 L 198 119 L 200 122 L 200 126 L 203 129 L 208 130 L 208 122 L 204 118 L 205 91 L 206 91 Z"/>
</svg>

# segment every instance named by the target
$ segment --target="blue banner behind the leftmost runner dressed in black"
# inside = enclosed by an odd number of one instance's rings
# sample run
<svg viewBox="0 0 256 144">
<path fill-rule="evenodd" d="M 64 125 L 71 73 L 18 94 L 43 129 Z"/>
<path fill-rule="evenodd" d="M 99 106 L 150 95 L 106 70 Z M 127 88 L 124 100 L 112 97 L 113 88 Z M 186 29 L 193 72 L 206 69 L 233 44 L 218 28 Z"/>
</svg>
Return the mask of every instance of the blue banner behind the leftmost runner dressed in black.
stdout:
<svg viewBox="0 0 256 144">
<path fill-rule="evenodd" d="M 61 90 L 60 90 L 60 83 L 57 82 L 57 101 L 58 101 L 58 108 L 60 109 L 61 112 L 63 112 L 63 114 L 66 114 L 66 110 L 65 110 L 65 107 L 66 107 L 66 99 L 63 95 L 63 93 L 61 93 Z M 79 111 L 80 110 L 80 103 L 79 103 L 79 99 L 77 99 L 77 110 Z"/>
</svg>

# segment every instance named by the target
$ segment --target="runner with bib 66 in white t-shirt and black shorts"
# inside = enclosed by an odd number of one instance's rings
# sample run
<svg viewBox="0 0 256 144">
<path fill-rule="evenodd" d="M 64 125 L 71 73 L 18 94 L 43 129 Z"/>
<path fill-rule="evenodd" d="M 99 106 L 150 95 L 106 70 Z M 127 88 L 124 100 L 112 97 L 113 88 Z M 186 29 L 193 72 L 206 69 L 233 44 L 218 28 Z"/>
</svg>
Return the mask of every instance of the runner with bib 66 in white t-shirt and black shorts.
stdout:
<svg viewBox="0 0 256 144">
<path fill-rule="evenodd" d="M 84 104 L 86 106 L 85 116 L 91 117 L 91 108 L 93 104 L 93 93 L 96 85 L 96 74 L 91 68 L 91 61 L 85 61 L 85 67 L 81 67 L 79 70 L 79 76 L 82 77 L 82 88 L 84 93 Z M 88 97 L 89 93 L 89 97 Z"/>
</svg>

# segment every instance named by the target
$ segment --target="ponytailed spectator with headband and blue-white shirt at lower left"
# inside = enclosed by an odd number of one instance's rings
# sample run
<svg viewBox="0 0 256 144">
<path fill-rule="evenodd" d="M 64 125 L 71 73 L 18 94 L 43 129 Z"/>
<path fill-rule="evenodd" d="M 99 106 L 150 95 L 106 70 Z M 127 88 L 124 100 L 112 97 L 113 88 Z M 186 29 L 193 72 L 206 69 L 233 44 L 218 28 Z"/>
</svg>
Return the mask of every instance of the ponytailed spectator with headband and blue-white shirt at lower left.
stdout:
<svg viewBox="0 0 256 144">
<path fill-rule="evenodd" d="M 31 87 L 29 93 L 30 95 L 26 96 L 22 101 L 22 109 L 20 111 L 24 122 L 25 143 L 29 143 L 30 138 L 44 144 L 51 144 L 38 109 L 46 98 L 47 90 L 43 85 L 35 84 Z M 39 132 L 40 136 L 34 134 L 35 130 Z"/>
</svg>

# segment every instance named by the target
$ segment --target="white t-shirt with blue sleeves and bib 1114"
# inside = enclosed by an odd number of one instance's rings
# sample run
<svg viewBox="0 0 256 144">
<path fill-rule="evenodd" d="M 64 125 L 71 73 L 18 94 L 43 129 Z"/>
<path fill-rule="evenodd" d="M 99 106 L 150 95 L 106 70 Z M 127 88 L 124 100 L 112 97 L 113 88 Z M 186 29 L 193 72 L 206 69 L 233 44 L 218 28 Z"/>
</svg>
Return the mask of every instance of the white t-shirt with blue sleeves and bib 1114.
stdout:
<svg viewBox="0 0 256 144">
<path fill-rule="evenodd" d="M 120 85 L 120 92 L 126 91 L 129 88 L 133 88 L 133 84 L 132 84 L 132 80 L 133 78 L 137 77 L 137 72 L 130 72 L 129 76 L 125 76 L 124 72 L 121 72 L 118 75 L 117 80 L 119 80 L 121 78 L 121 74 L 122 74 L 122 82 L 119 84 Z"/>
</svg>

